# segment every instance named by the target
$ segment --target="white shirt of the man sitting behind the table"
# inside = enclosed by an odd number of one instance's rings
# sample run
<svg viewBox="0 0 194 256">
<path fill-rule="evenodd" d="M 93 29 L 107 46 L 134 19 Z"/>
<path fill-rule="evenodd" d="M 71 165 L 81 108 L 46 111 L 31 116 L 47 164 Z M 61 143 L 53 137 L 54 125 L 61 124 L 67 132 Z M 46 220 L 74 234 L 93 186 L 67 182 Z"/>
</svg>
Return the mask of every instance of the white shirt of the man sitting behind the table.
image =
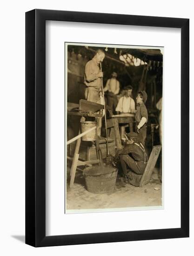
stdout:
<svg viewBox="0 0 194 256">
<path fill-rule="evenodd" d="M 120 111 L 122 113 L 134 113 L 135 112 L 135 102 L 131 97 L 123 96 L 119 99 L 116 111 Z"/>
</svg>

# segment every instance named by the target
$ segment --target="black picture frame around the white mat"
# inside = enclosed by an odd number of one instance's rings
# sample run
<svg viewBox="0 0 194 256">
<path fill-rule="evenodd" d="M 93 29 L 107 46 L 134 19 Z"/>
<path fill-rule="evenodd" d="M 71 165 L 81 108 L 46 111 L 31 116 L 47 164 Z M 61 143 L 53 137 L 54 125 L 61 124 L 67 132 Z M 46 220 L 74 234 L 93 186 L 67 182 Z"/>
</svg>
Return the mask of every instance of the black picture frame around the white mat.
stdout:
<svg viewBox="0 0 194 256">
<path fill-rule="evenodd" d="M 181 28 L 181 228 L 46 236 L 46 20 Z M 26 13 L 26 243 L 34 247 L 189 236 L 189 19 L 34 9 Z"/>
</svg>

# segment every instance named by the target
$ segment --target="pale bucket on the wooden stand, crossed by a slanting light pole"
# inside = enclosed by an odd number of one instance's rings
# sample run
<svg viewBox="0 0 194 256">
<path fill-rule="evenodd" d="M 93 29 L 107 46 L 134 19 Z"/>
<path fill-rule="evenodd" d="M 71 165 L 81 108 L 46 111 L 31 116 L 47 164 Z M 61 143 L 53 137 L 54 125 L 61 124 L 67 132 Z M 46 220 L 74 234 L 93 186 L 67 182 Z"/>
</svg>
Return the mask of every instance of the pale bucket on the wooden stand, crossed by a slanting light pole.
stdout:
<svg viewBox="0 0 194 256">
<path fill-rule="evenodd" d="M 81 133 L 86 132 L 90 128 L 97 126 L 97 122 L 95 121 L 80 121 L 81 123 Z M 82 141 L 95 141 L 97 135 L 97 130 L 94 129 L 86 135 L 82 136 Z"/>
</svg>

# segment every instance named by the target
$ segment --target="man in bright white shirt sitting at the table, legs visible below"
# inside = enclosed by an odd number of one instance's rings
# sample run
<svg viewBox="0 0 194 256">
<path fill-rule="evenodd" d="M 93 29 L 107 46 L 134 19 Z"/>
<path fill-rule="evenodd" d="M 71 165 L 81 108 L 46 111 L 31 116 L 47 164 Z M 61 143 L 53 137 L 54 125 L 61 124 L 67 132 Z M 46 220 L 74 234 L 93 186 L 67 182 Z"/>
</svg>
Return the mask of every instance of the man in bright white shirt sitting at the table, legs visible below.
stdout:
<svg viewBox="0 0 194 256">
<path fill-rule="evenodd" d="M 134 99 L 131 97 L 133 87 L 128 85 L 125 89 L 125 95 L 120 97 L 118 105 L 116 107 L 117 115 L 119 114 L 126 114 L 126 113 L 135 113 L 135 102 Z M 133 123 L 129 123 L 130 131 L 133 131 Z M 121 139 L 124 138 L 125 134 L 125 125 L 121 126 Z"/>
</svg>

